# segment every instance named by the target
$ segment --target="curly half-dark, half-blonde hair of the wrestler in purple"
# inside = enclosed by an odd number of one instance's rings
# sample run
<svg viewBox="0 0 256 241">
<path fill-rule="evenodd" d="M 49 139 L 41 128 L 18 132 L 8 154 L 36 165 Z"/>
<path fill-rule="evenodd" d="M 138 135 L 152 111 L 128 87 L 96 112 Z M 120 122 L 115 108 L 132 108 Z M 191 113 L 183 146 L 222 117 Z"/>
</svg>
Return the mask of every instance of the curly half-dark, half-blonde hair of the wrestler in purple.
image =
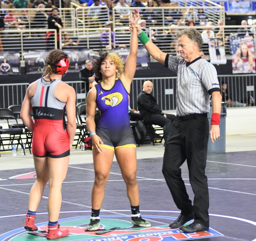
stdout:
<svg viewBox="0 0 256 241">
<path fill-rule="evenodd" d="M 100 51 L 99 55 L 100 55 L 99 58 L 97 58 L 97 60 L 95 60 L 93 64 L 93 72 L 96 76 L 95 81 L 99 83 L 102 80 L 102 73 L 100 72 L 100 66 L 101 66 L 101 63 L 106 58 L 111 58 L 111 60 L 114 62 L 117 69 L 116 79 L 119 79 L 121 73 L 124 70 L 124 61 L 121 58 L 121 56 L 119 56 L 117 53 L 109 53 L 104 50 Z"/>
</svg>

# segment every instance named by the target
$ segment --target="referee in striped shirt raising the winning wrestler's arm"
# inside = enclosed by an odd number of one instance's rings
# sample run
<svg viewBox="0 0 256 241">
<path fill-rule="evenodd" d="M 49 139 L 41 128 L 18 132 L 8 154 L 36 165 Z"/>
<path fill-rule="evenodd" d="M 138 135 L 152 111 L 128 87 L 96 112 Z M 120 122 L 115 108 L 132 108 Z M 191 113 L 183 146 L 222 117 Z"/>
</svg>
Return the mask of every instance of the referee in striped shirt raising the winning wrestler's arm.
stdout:
<svg viewBox="0 0 256 241">
<path fill-rule="evenodd" d="M 205 175 L 209 134 L 214 142 L 220 137 L 221 94 L 214 66 L 201 58 L 201 34 L 196 29 L 178 32 L 178 52 L 171 56 L 152 43 L 145 32 L 137 27 L 138 38 L 149 54 L 165 67 L 177 73 L 176 121 L 171 126 L 166 141 L 163 174 L 173 200 L 181 210 L 180 216 L 169 226 L 184 232 L 200 232 L 209 229 L 209 192 Z M 212 97 L 213 114 L 211 128 L 207 113 Z M 194 203 L 189 199 L 181 176 L 183 162 L 187 159 L 189 181 L 194 191 Z M 189 225 L 184 224 L 194 219 Z"/>
</svg>

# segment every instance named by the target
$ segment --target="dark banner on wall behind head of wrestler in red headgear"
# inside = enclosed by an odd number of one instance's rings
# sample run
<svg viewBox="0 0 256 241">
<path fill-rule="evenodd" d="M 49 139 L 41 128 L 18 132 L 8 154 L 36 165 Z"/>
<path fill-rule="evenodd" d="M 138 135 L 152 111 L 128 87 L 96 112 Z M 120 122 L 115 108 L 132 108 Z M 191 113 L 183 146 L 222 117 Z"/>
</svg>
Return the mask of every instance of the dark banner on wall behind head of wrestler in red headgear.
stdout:
<svg viewBox="0 0 256 241">
<path fill-rule="evenodd" d="M 24 51 L 26 73 L 42 73 L 45 66 L 45 58 L 50 50 L 29 50 Z M 87 49 L 65 49 L 64 52 L 69 56 L 70 64 L 68 72 L 79 72 L 89 58 Z"/>
</svg>

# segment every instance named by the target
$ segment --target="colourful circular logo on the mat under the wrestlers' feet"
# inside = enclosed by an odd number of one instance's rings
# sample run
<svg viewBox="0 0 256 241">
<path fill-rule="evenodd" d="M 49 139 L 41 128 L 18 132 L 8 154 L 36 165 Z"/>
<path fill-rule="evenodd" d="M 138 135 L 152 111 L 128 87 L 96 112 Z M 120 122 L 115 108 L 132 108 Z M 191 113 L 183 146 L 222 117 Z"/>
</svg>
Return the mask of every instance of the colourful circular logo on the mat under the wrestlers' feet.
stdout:
<svg viewBox="0 0 256 241">
<path fill-rule="evenodd" d="M 112 219 L 112 218 L 120 219 Z M 166 216 L 144 215 L 148 218 L 171 219 Z M 209 229 L 209 231 L 198 233 L 184 233 L 180 229 L 171 229 L 168 225 L 154 227 L 137 227 L 131 222 L 122 220 L 123 215 L 102 215 L 100 219 L 100 230 L 85 231 L 90 222 L 90 216 L 71 217 L 59 220 L 62 229 L 69 229 L 69 236 L 62 238 L 64 241 L 177 241 L 188 239 L 209 238 L 210 236 L 222 236 L 221 233 Z M 0 235 L 0 240 L 28 241 L 45 240 L 47 234 L 47 222 L 36 224 L 38 231 L 25 231 L 24 228 L 16 229 Z M 1 239 L 2 238 L 2 239 Z"/>
</svg>

